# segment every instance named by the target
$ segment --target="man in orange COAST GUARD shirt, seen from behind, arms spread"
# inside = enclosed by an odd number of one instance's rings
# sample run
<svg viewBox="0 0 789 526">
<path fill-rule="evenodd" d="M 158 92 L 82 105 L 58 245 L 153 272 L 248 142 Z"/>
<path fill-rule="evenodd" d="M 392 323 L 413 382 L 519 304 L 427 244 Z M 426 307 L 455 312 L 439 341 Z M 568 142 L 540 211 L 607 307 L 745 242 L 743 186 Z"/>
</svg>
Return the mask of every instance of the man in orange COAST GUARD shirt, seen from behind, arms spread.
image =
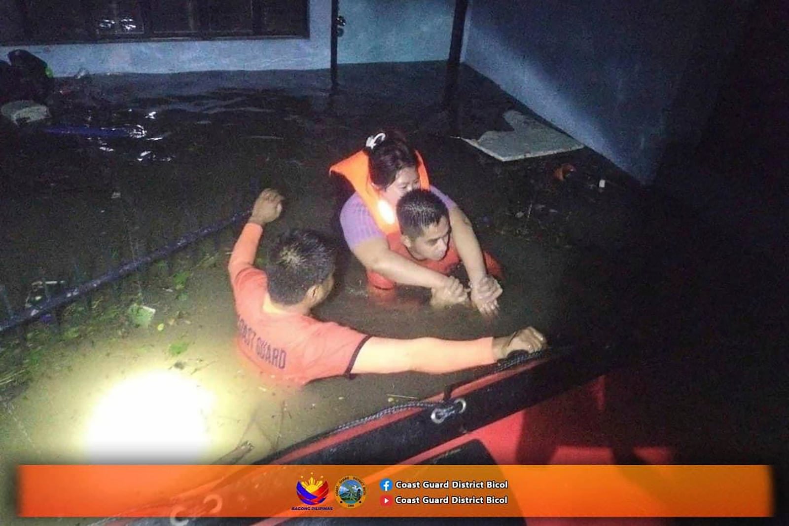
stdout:
<svg viewBox="0 0 789 526">
<path fill-rule="evenodd" d="M 499 338 L 397 340 L 316 320 L 312 308 L 335 283 L 335 255 L 318 235 L 290 231 L 271 247 L 265 271 L 252 265 L 264 225 L 281 212 L 279 193 L 260 193 L 227 266 L 238 314 L 238 349 L 260 373 L 301 385 L 342 374 L 440 374 L 545 347 L 545 337 L 533 327 Z"/>
</svg>

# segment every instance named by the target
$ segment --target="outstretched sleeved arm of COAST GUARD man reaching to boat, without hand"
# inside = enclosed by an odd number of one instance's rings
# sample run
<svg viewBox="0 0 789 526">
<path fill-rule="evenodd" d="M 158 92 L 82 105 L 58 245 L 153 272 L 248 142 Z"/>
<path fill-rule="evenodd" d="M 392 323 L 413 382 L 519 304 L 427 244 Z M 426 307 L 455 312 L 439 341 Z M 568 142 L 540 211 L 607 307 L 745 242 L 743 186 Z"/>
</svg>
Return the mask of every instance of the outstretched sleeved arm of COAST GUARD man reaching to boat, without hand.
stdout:
<svg viewBox="0 0 789 526">
<path fill-rule="evenodd" d="M 451 373 L 495 363 L 503 358 L 509 340 L 510 336 L 461 341 L 372 337 L 359 351 L 351 373 Z"/>
</svg>

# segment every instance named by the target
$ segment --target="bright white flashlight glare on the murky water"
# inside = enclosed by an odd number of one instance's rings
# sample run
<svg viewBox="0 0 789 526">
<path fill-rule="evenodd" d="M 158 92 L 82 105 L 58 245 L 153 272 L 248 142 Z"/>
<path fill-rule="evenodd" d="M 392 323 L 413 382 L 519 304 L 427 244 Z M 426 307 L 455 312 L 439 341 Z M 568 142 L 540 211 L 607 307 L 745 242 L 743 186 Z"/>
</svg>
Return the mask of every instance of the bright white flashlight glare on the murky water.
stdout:
<svg viewBox="0 0 789 526">
<path fill-rule="evenodd" d="M 131 378 L 107 394 L 88 426 L 94 463 L 196 462 L 208 448 L 214 396 L 173 371 Z"/>
</svg>

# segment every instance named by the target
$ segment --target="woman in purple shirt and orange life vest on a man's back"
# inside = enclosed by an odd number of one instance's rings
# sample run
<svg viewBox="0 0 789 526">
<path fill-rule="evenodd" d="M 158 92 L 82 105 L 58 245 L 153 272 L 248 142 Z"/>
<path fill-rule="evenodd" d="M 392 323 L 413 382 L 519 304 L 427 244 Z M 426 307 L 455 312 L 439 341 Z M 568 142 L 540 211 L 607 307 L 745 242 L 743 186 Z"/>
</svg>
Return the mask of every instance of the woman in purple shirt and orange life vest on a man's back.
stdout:
<svg viewBox="0 0 789 526">
<path fill-rule="evenodd" d="M 451 238 L 469 276 L 470 299 L 482 314 L 498 311 L 502 293 L 499 282 L 488 274 L 477 235 L 466 214 L 441 191 L 430 186 L 421 155 L 397 132 L 368 137 L 365 148 L 331 167 L 356 190 L 340 212 L 340 224 L 353 255 L 365 265 L 373 287 L 394 284 L 427 287 L 434 304 L 466 302 L 469 291 L 453 276 L 444 276 L 391 250 L 400 238 L 395 207 L 409 190 L 435 193 L 449 210 Z"/>
</svg>

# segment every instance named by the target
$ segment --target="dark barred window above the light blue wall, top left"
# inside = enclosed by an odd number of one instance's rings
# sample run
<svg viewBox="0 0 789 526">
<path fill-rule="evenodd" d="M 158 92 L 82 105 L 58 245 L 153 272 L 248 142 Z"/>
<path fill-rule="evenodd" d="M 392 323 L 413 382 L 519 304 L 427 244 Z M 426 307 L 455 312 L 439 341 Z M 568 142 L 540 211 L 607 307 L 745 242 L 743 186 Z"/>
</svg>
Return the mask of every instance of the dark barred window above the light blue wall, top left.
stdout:
<svg viewBox="0 0 789 526">
<path fill-rule="evenodd" d="M 0 43 L 309 36 L 308 0 L 0 0 Z"/>
</svg>

